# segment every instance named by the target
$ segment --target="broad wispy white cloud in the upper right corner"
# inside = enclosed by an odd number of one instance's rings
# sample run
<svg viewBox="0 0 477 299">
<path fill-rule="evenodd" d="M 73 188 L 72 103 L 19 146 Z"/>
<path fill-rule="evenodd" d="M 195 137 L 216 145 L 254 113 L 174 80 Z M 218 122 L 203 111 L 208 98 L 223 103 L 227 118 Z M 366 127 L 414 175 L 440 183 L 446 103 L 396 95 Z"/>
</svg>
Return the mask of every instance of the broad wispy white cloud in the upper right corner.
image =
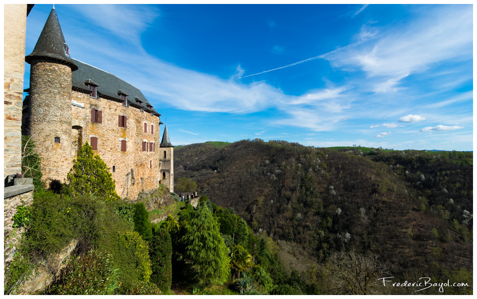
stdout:
<svg viewBox="0 0 477 299">
<path fill-rule="evenodd" d="M 360 47 L 328 55 L 333 65 L 359 66 L 379 77 L 376 92 L 396 91 L 400 81 L 436 62 L 469 59 L 473 51 L 472 6 L 438 6 L 407 25 L 395 26 Z"/>
</svg>

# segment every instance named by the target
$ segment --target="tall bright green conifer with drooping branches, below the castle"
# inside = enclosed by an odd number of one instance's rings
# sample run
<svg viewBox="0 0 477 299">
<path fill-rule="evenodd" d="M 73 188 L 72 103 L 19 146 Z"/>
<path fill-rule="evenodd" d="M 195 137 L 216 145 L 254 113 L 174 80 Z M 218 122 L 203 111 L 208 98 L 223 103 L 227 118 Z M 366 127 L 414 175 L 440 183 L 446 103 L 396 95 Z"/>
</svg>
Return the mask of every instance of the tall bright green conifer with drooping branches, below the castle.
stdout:
<svg viewBox="0 0 477 299">
<path fill-rule="evenodd" d="M 222 284 L 230 275 L 229 256 L 219 224 L 210 210 L 202 205 L 193 214 L 182 237 L 185 258 L 192 263 L 200 286 Z"/>
</svg>

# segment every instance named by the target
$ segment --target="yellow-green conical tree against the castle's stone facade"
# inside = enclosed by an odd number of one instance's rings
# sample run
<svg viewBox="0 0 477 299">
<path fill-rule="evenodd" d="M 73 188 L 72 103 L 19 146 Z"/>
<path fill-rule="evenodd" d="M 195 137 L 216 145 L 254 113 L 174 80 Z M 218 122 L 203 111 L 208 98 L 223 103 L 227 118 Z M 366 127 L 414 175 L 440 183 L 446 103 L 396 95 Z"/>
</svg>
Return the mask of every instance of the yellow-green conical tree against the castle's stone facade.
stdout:
<svg viewBox="0 0 477 299">
<path fill-rule="evenodd" d="M 78 157 L 66 179 L 66 192 L 72 196 L 95 194 L 98 199 L 118 200 L 116 185 L 106 163 L 95 155 L 86 142 L 79 150 Z"/>
</svg>

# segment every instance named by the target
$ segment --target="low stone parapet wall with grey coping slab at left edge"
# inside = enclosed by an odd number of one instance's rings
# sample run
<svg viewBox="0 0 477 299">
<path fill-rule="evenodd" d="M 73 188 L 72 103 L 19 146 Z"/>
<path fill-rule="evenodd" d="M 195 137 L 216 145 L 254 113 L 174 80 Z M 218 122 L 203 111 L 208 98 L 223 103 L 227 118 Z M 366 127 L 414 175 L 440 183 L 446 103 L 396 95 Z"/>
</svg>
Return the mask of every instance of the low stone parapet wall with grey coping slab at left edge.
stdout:
<svg viewBox="0 0 477 299">
<path fill-rule="evenodd" d="M 30 187 L 30 188 L 28 188 Z M 8 188 L 17 188 L 8 187 Z M 20 241 L 23 228 L 13 227 L 13 215 L 17 212 L 18 206 L 30 205 L 33 202 L 33 185 L 18 186 L 30 191 L 3 199 L 3 267 L 8 268 L 13 260 L 13 254 Z"/>
</svg>

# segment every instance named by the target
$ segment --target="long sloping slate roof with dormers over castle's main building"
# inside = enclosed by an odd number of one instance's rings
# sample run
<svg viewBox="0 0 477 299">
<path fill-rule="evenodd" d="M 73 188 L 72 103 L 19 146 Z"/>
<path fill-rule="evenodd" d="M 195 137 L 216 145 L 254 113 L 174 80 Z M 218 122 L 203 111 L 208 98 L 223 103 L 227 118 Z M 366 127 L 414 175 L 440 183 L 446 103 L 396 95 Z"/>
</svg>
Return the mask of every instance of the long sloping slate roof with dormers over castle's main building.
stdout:
<svg viewBox="0 0 477 299">
<path fill-rule="evenodd" d="M 122 101 L 119 94 L 125 94 L 127 95 L 128 105 L 132 104 L 137 108 L 143 108 L 145 112 L 153 113 L 157 116 L 161 115 L 152 108 L 152 105 L 139 89 L 102 69 L 76 59 L 72 59 L 72 61 L 78 66 L 78 69 L 72 72 L 71 84 L 73 87 L 89 91 L 89 87 L 85 83 L 90 83 L 97 86 L 96 92 L 98 96 L 103 95 L 118 101 Z M 142 101 L 142 106 L 138 101 Z"/>
</svg>

